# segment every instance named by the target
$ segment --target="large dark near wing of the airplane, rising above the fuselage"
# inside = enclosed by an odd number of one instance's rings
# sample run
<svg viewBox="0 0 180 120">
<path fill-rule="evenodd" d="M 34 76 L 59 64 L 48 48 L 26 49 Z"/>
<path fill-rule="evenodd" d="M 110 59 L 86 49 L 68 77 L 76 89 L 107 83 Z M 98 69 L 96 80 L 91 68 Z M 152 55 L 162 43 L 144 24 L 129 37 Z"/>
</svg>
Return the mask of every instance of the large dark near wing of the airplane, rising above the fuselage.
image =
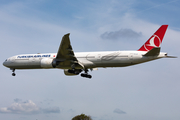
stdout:
<svg viewBox="0 0 180 120">
<path fill-rule="evenodd" d="M 78 60 L 74 55 L 69 35 L 70 33 L 62 37 L 62 41 L 56 56 L 56 61 L 58 62 L 56 65 L 60 65 L 61 67 L 71 67 L 73 64 L 76 64 L 76 66 L 81 66 L 78 64 Z"/>
</svg>

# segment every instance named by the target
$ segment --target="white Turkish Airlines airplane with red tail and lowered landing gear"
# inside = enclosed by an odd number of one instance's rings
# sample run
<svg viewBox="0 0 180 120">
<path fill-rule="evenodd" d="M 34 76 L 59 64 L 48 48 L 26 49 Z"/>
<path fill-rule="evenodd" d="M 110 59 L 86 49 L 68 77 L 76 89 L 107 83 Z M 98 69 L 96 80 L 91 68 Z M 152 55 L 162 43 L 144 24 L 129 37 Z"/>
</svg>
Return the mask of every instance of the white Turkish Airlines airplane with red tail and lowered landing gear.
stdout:
<svg viewBox="0 0 180 120">
<path fill-rule="evenodd" d="M 160 52 L 160 45 L 168 25 L 162 25 L 142 47 L 135 51 L 104 51 L 104 52 L 77 52 L 72 49 L 69 35 L 62 37 L 57 53 L 21 54 L 12 56 L 3 62 L 5 67 L 15 69 L 64 69 L 67 76 L 79 75 L 92 78 L 89 70 L 107 67 L 126 67 L 160 58 L 176 58 Z"/>
</svg>

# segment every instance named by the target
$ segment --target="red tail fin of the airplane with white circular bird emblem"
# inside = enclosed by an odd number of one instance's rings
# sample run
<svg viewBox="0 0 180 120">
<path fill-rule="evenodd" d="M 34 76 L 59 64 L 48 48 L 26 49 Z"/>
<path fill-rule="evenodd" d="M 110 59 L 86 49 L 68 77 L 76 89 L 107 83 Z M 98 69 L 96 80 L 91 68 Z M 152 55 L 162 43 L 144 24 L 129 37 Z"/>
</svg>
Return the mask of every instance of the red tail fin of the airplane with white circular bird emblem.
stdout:
<svg viewBox="0 0 180 120">
<path fill-rule="evenodd" d="M 155 47 L 160 47 L 168 25 L 162 25 L 138 51 L 149 51 Z"/>
</svg>

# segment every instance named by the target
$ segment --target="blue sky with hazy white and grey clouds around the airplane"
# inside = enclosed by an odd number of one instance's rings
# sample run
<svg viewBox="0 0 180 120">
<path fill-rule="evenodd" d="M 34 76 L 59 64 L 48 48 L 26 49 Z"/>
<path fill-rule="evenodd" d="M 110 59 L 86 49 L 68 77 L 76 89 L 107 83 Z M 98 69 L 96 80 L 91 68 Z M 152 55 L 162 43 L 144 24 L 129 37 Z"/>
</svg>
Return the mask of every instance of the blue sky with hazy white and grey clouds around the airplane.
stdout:
<svg viewBox="0 0 180 120">
<path fill-rule="evenodd" d="M 161 51 L 180 56 L 180 0 L 0 1 L 0 62 L 18 54 L 56 53 L 70 33 L 75 52 L 138 50 L 163 24 Z M 92 79 L 61 69 L 0 66 L 0 119 L 179 120 L 179 58 L 99 68 Z"/>
</svg>

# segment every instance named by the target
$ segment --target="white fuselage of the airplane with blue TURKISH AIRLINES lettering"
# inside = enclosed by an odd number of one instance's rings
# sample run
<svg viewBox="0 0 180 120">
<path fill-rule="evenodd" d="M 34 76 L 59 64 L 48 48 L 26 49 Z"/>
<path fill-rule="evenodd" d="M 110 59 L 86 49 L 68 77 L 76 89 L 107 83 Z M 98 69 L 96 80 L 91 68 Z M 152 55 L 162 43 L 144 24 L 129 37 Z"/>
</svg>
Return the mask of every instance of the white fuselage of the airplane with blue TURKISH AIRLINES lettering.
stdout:
<svg viewBox="0 0 180 120">
<path fill-rule="evenodd" d="M 125 67 L 166 57 L 166 53 L 158 56 L 143 56 L 145 51 L 107 51 L 107 52 L 77 52 L 75 56 L 85 68 Z M 56 53 L 22 54 L 8 58 L 3 65 L 11 69 L 43 69 L 53 68 L 52 61 Z M 59 65 L 56 68 L 71 69 L 69 65 Z M 78 69 L 78 68 L 77 68 Z"/>
</svg>

